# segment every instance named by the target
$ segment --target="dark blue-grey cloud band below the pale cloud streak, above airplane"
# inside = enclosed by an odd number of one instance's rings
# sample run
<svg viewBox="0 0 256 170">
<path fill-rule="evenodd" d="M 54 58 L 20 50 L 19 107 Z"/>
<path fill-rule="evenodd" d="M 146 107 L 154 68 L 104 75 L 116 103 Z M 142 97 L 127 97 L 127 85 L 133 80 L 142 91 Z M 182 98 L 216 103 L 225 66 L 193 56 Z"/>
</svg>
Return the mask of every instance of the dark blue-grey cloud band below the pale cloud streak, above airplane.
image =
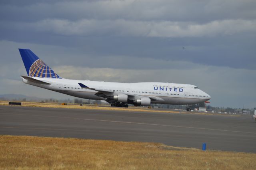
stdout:
<svg viewBox="0 0 256 170">
<path fill-rule="evenodd" d="M 256 36 L 250 34 L 236 34 L 236 36 L 219 37 L 188 37 L 188 38 L 151 38 L 128 36 L 60 36 L 52 33 L 37 33 L 33 30 L 16 32 L 3 30 L 2 38 L 16 42 L 29 42 L 65 47 L 60 64 L 78 66 L 102 67 L 106 62 L 88 62 L 118 56 L 132 60 L 132 58 L 153 58 L 156 60 L 190 61 L 205 65 L 229 66 L 232 68 L 255 69 Z M 183 49 L 182 47 L 185 47 Z M 24 47 L 31 48 L 31 47 Z M 75 50 L 74 50 L 75 49 Z M 36 49 L 32 49 L 36 50 Z M 47 49 L 46 49 L 47 50 Z M 46 53 L 46 52 L 44 52 Z M 59 52 L 62 53 L 62 52 Z M 56 54 L 57 55 L 57 54 Z M 81 62 L 72 60 L 70 56 Z M 56 56 L 57 57 L 57 56 Z M 130 59 L 129 59 L 130 58 Z M 2 62 L 4 62 L 3 59 Z M 119 59 L 117 59 L 119 60 Z M 8 62 L 8 59 L 6 59 Z M 91 64 L 94 63 L 94 64 Z M 96 64 L 97 63 L 97 64 Z M 141 64 L 113 64 L 110 68 L 144 68 Z M 106 66 L 106 65 L 105 65 Z M 154 68 L 162 68 L 154 65 Z"/>
</svg>

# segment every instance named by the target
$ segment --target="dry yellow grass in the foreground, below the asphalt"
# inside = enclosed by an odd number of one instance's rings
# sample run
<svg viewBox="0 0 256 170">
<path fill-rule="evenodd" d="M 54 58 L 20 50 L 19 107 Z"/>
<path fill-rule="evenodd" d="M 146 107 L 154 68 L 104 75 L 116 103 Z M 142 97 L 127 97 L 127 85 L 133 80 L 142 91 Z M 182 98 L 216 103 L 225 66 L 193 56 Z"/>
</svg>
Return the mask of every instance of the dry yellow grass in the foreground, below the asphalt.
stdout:
<svg viewBox="0 0 256 170">
<path fill-rule="evenodd" d="M 254 170 L 255 157 L 158 143 L 0 136 L 1 170 Z"/>
</svg>

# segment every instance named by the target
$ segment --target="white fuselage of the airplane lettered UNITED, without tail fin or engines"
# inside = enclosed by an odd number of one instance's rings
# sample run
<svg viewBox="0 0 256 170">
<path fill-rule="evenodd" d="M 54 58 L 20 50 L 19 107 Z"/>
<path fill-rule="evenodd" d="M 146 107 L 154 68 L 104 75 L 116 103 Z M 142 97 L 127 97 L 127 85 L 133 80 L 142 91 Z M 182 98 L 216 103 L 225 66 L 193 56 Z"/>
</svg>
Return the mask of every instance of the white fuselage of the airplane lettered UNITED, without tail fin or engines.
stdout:
<svg viewBox="0 0 256 170">
<path fill-rule="evenodd" d="M 50 84 L 38 84 L 22 78 L 26 84 L 38 86 L 48 90 L 53 90 L 78 98 L 106 100 L 98 96 L 99 91 L 82 88 L 78 83 L 82 83 L 89 88 L 110 91 L 111 95 L 127 94 L 129 100 L 139 98 L 150 98 L 153 104 L 196 104 L 210 100 L 210 95 L 190 84 L 160 83 L 160 82 L 141 82 L 141 83 L 117 83 L 117 82 L 98 82 L 90 80 L 70 80 L 37 78 Z"/>
</svg>

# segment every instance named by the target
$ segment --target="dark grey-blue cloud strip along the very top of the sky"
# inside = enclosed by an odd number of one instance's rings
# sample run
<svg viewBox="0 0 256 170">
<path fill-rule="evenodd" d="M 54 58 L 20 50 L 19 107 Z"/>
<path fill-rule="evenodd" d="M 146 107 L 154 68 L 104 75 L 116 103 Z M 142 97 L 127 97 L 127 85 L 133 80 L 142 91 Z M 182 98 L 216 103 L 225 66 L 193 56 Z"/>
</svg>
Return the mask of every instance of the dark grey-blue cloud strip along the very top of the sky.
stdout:
<svg viewBox="0 0 256 170">
<path fill-rule="evenodd" d="M 255 8 L 254 0 L 4 0 L 1 1 L 0 11 L 8 14 L 3 17 L 6 20 L 59 18 L 74 21 L 87 18 L 201 23 L 223 19 L 255 19 Z"/>
</svg>

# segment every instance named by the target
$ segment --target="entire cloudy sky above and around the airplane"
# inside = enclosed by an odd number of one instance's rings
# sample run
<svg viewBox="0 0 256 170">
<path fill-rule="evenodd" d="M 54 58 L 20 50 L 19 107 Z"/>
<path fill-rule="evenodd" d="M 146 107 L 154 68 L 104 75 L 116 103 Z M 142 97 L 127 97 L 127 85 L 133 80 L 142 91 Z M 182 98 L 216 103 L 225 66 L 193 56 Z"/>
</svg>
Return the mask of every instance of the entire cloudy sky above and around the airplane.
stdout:
<svg viewBox="0 0 256 170">
<path fill-rule="evenodd" d="M 72 99 L 24 84 L 18 48 L 63 78 L 193 84 L 211 106 L 256 107 L 255 0 L 1 0 L 0 94 Z"/>
</svg>

